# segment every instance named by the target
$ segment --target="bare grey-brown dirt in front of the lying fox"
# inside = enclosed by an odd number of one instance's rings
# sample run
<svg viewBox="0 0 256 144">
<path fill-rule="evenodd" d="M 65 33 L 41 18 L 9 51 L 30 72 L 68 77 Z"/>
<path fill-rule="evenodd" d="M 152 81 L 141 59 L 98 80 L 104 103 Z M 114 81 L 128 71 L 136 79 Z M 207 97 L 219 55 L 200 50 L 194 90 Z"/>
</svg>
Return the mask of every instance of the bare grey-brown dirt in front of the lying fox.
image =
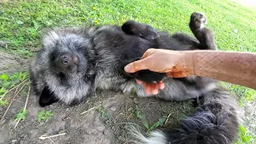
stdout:
<svg viewBox="0 0 256 144">
<path fill-rule="evenodd" d="M 0 59 L 3 63 L 1 73 L 26 70 L 27 62 L 22 58 L 0 53 Z M 9 97 L 13 95 L 10 94 Z M 141 130 L 146 131 L 142 118 L 152 126 L 159 118 L 169 115 L 163 127 L 171 127 L 184 114 L 193 110 L 191 102 L 164 102 L 156 98 L 138 98 L 134 94 L 102 90 L 98 90 L 94 96 L 78 106 L 55 103 L 42 108 L 38 106 L 38 98 L 30 91 L 26 118 L 14 129 L 14 117 L 25 102 L 26 93 L 18 95 L 10 106 L 5 120 L 0 125 L 0 143 L 132 143 L 127 127 L 141 126 Z M 1 118 L 6 107 L 0 108 Z M 38 122 L 37 113 L 42 110 L 51 110 L 53 116 L 48 122 Z M 82 114 L 86 110 L 88 111 Z M 60 135 L 42 140 L 40 137 L 43 134 Z"/>
</svg>

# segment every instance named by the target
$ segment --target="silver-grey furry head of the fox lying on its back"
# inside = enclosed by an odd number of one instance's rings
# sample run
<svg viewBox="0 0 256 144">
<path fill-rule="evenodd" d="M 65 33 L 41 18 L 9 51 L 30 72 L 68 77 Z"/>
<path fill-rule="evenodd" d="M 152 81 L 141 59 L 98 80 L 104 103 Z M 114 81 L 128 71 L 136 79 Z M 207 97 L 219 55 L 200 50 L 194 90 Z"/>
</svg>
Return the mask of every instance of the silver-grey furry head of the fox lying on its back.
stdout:
<svg viewBox="0 0 256 144">
<path fill-rule="evenodd" d="M 30 70 L 40 105 L 50 105 L 56 99 L 69 104 L 86 95 L 94 73 L 93 59 L 90 38 L 82 30 L 58 29 L 44 34 L 42 50 Z"/>
</svg>

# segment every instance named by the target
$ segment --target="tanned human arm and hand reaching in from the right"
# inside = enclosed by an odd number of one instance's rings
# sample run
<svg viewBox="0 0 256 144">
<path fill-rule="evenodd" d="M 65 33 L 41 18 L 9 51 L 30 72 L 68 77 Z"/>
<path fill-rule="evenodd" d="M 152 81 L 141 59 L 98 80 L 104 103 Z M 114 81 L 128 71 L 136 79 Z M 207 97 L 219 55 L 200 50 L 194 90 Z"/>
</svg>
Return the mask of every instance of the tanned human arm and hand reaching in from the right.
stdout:
<svg viewBox="0 0 256 144">
<path fill-rule="evenodd" d="M 255 53 L 220 50 L 175 51 L 150 49 L 143 54 L 141 60 L 130 63 L 125 67 L 125 70 L 127 73 L 134 73 L 138 70 L 152 70 L 166 73 L 174 78 L 198 75 L 256 90 Z M 160 85 L 160 87 L 163 86 Z"/>
</svg>

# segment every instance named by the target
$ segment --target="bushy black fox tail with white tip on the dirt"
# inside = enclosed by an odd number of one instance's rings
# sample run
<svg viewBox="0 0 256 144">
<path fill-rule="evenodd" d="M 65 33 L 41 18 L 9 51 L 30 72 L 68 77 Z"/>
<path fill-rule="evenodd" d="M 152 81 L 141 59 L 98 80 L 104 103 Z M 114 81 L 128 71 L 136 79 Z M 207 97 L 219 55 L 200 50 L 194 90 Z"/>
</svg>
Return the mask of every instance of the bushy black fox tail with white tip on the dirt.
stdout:
<svg viewBox="0 0 256 144">
<path fill-rule="evenodd" d="M 132 134 L 143 144 L 230 144 L 238 135 L 238 105 L 227 90 L 217 88 L 203 94 L 194 114 L 172 130 L 158 130 L 145 137 Z"/>
</svg>

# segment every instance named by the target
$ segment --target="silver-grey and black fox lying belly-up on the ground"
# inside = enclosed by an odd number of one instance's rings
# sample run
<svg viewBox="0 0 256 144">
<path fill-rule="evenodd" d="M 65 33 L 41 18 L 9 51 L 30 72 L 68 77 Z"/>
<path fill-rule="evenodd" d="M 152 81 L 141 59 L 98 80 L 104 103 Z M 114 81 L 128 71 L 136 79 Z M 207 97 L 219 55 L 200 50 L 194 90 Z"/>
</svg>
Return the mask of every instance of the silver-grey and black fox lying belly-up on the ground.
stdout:
<svg viewBox="0 0 256 144">
<path fill-rule="evenodd" d="M 82 102 L 96 89 L 135 90 L 139 97 L 184 101 L 200 98 L 194 114 L 173 130 L 154 131 L 149 138 L 134 131 L 142 143 L 218 143 L 234 142 L 238 133 L 238 106 L 230 93 L 215 80 L 198 76 L 167 78 L 166 74 L 141 70 L 126 74 L 124 66 L 142 57 L 151 47 L 170 50 L 216 50 L 213 32 L 206 28 L 204 14 L 190 16 L 186 34 L 168 34 L 151 26 L 127 21 L 122 26 L 59 28 L 42 38 L 42 50 L 31 63 L 30 78 L 40 106 L 54 102 L 68 105 Z M 165 79 L 165 89 L 147 95 L 135 82 Z"/>
</svg>

